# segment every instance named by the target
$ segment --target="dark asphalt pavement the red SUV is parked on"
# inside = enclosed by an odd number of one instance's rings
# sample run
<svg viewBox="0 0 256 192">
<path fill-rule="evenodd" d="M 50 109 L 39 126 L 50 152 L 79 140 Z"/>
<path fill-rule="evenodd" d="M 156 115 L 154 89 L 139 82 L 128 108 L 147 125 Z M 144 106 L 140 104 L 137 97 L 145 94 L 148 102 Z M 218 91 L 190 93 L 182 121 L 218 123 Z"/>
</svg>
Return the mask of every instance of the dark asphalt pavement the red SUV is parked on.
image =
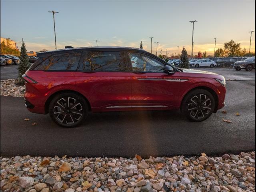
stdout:
<svg viewBox="0 0 256 192">
<path fill-rule="evenodd" d="M 227 81 L 225 102 L 226 114 L 219 110 L 204 122 L 188 122 L 179 111 L 108 112 L 66 129 L 28 112 L 23 98 L 1 96 L 0 154 L 146 158 L 255 150 L 255 80 Z"/>
</svg>

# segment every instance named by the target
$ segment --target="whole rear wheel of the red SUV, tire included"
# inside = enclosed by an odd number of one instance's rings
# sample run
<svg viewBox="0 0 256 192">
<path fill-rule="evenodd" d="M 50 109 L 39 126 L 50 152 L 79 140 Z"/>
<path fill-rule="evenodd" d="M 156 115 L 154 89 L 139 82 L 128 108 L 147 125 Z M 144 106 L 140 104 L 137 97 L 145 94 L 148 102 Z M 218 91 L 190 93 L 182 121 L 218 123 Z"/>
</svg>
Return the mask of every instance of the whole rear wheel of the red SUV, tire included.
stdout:
<svg viewBox="0 0 256 192">
<path fill-rule="evenodd" d="M 61 93 L 50 102 L 49 114 L 52 120 L 62 127 L 76 127 L 88 116 L 88 104 L 78 94 Z"/>
</svg>

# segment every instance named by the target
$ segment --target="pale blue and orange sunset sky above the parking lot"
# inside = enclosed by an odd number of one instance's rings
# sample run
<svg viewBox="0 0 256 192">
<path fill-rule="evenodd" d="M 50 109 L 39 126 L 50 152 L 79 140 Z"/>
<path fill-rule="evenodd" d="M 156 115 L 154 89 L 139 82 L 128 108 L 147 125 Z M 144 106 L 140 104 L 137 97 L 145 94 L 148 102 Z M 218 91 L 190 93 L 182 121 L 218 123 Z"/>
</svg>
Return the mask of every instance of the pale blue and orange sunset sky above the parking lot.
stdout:
<svg viewBox="0 0 256 192">
<path fill-rule="evenodd" d="M 233 39 L 249 50 L 249 31 L 255 30 L 255 1 L 11 1 L 1 0 L 1 37 L 20 42 L 28 51 L 54 50 L 55 15 L 57 49 L 64 46 L 139 47 L 150 52 L 174 54 L 185 46 L 191 54 L 192 24 L 194 54 L 214 52 Z M 255 32 L 251 50 L 255 51 Z"/>
</svg>

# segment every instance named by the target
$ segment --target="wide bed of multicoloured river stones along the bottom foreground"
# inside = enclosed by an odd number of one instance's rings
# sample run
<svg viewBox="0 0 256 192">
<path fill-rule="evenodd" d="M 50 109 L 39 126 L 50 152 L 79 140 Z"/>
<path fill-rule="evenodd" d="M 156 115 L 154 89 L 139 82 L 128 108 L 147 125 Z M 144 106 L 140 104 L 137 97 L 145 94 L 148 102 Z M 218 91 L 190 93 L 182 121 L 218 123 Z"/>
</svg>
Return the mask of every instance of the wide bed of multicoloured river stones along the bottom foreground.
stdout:
<svg viewBox="0 0 256 192">
<path fill-rule="evenodd" d="M 220 157 L 1 157 L 4 192 L 255 192 L 255 152 Z"/>
</svg>

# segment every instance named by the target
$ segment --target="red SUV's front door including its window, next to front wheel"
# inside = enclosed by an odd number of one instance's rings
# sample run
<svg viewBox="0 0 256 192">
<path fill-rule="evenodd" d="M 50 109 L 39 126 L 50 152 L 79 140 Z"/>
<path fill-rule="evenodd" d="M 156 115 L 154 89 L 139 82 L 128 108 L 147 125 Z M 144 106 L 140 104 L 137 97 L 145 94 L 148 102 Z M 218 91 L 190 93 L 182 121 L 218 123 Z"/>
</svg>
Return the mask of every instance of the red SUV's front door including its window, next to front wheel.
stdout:
<svg viewBox="0 0 256 192">
<path fill-rule="evenodd" d="M 164 73 L 165 64 L 139 52 L 129 52 L 132 64 L 132 108 L 170 109 L 177 106 L 180 75 Z"/>
</svg>

